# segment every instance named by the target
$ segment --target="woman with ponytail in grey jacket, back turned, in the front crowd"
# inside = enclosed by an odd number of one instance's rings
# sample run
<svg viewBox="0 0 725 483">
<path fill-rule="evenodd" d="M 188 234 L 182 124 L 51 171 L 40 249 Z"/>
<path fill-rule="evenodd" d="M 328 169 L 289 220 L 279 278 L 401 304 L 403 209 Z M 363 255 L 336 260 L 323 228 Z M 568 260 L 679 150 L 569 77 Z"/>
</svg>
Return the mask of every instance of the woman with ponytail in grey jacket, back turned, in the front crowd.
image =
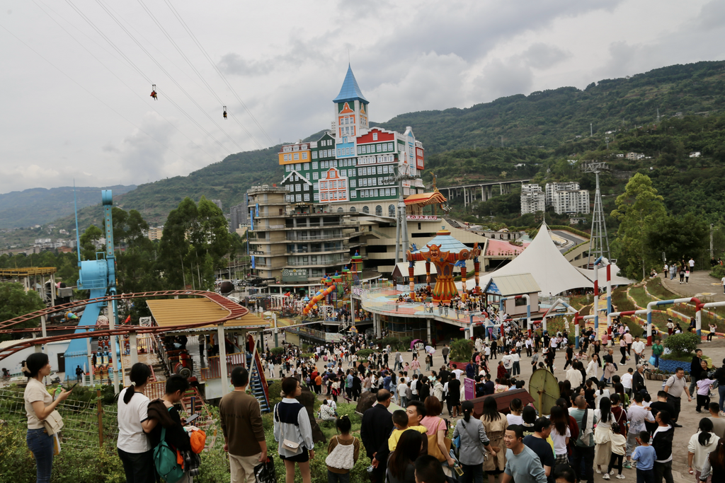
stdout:
<svg viewBox="0 0 725 483">
<path fill-rule="evenodd" d="M 461 483 L 483 483 L 484 467 L 486 460 L 484 453 L 488 451 L 492 458 L 496 456 L 495 451 L 489 444 L 484 424 L 480 419 L 472 418 L 473 403 L 470 400 L 463 401 L 463 419 L 459 419 L 453 430 L 453 439 L 460 436 L 460 461 L 463 475 L 458 479 Z M 484 449 L 485 448 L 485 449 Z"/>
</svg>

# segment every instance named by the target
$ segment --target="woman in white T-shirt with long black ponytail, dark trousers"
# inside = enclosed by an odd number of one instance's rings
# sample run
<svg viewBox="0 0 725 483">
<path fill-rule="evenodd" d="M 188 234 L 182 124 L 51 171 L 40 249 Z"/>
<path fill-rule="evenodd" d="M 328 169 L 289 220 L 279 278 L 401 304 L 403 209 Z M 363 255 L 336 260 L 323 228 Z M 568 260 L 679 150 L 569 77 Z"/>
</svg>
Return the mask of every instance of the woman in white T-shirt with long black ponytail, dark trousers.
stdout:
<svg viewBox="0 0 725 483">
<path fill-rule="evenodd" d="M 154 472 L 154 448 L 146 436 L 151 431 L 149 398 L 144 395 L 151 369 L 137 362 L 131 367 L 130 386 L 118 395 L 118 457 L 123 463 L 126 483 L 152 483 Z"/>
</svg>

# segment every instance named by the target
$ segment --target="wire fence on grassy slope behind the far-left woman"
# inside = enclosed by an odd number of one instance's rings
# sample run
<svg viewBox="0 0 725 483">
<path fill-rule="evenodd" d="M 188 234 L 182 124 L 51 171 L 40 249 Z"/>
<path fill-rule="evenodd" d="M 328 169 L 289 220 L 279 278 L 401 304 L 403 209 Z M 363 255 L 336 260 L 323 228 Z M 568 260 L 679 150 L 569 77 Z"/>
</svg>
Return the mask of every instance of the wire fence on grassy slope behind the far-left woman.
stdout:
<svg viewBox="0 0 725 483">
<path fill-rule="evenodd" d="M 64 427 L 60 432 L 61 448 L 70 445 L 83 449 L 91 446 L 101 447 L 104 440 L 116 440 L 118 437 L 116 406 L 101 404 L 101 391 L 96 398 L 88 402 L 65 400 L 57 407 L 63 418 Z M 23 393 L 0 389 L 0 419 L 7 421 L 9 427 L 25 432 L 28 419 L 25 414 Z"/>
</svg>

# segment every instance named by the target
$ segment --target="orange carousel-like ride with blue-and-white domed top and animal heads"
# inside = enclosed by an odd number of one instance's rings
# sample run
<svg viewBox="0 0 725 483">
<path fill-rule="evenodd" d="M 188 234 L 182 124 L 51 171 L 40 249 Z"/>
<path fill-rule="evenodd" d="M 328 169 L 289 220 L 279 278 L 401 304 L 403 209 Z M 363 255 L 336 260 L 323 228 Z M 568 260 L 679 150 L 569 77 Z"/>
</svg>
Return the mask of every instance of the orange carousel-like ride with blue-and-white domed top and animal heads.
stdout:
<svg viewBox="0 0 725 483">
<path fill-rule="evenodd" d="M 451 236 L 451 232 L 448 230 L 438 230 L 436 236 L 426 245 L 427 250 L 418 250 L 413 245 L 413 251 L 408 250 L 405 253 L 408 261 L 408 273 L 410 274 L 410 292 L 415 291 L 415 282 L 413 280 L 413 274 L 415 272 L 415 262 L 425 261 L 426 262 L 426 283 L 428 288 L 431 286 L 431 264 L 436 266 L 436 272 L 438 277 L 436 278 L 436 286 L 433 289 L 433 301 L 448 303 L 451 298 L 458 295 L 458 290 L 453 282 L 453 267 L 460 266 L 461 279 L 464 281 L 465 287 L 465 261 L 473 259 L 473 270 L 474 276 L 476 277 L 476 287 L 473 289 L 474 292 L 479 293 L 481 288 L 479 287 L 479 256 L 481 255 L 481 248 L 479 244 L 475 243 L 473 248 L 468 248 L 466 245 L 456 240 Z"/>
</svg>

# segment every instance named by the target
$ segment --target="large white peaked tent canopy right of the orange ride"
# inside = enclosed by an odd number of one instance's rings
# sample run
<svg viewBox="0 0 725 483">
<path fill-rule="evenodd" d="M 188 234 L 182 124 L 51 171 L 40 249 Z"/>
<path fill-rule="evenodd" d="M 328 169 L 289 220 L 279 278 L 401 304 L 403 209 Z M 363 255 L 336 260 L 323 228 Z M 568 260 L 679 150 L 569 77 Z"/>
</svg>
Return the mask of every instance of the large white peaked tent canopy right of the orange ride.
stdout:
<svg viewBox="0 0 725 483">
<path fill-rule="evenodd" d="M 600 270 L 605 272 L 605 270 Z M 546 223 L 539 228 L 536 238 L 526 247 L 521 255 L 502 266 L 500 269 L 481 276 L 481 288 L 489 282 L 492 274 L 513 275 L 530 273 L 541 287 L 542 295 L 558 295 L 575 288 L 593 288 L 594 283 L 575 266 L 566 261 L 559 248 L 554 244 Z M 605 276 L 606 279 L 606 276 Z M 476 282 L 473 278 L 466 281 L 466 287 L 471 290 Z M 458 282 L 459 289 L 461 287 Z"/>
</svg>

